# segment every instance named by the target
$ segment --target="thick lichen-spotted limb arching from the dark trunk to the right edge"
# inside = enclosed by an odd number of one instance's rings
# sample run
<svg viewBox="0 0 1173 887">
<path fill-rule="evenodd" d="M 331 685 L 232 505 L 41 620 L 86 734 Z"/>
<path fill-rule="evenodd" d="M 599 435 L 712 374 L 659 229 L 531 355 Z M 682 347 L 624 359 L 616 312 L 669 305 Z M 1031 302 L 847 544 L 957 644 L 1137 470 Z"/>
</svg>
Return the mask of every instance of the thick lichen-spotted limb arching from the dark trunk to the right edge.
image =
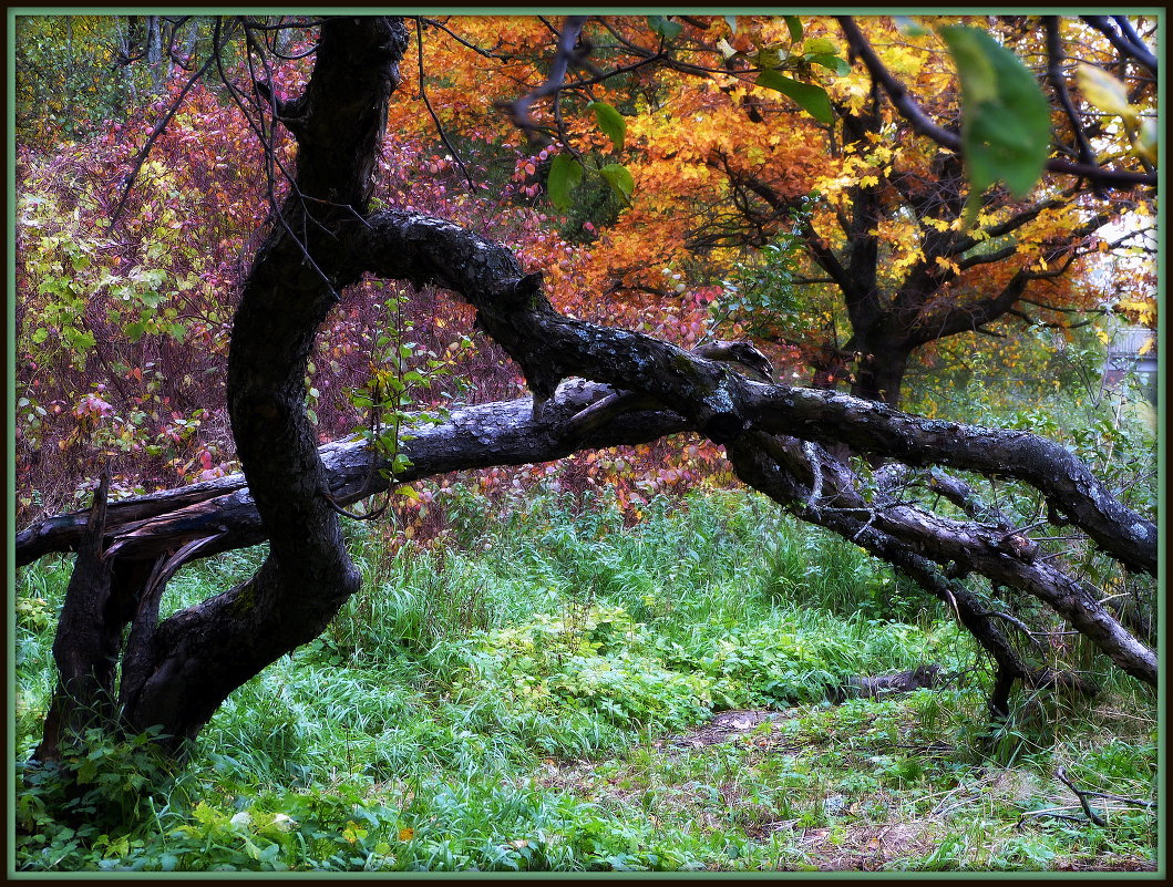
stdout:
<svg viewBox="0 0 1173 887">
<path fill-rule="evenodd" d="M 399 211 L 369 218 L 355 243 L 365 270 L 434 283 L 460 293 L 517 360 L 541 401 L 557 380 L 582 375 L 672 404 L 717 442 L 758 426 L 827 445 L 839 442 L 909 465 L 937 462 L 1012 476 L 1042 490 L 1105 550 L 1146 573 L 1157 569 L 1157 528 L 1117 502 L 1083 462 L 1053 441 L 921 420 L 850 395 L 751 382 L 666 343 L 557 314 L 540 282 L 514 256 L 457 225 Z"/>
</svg>

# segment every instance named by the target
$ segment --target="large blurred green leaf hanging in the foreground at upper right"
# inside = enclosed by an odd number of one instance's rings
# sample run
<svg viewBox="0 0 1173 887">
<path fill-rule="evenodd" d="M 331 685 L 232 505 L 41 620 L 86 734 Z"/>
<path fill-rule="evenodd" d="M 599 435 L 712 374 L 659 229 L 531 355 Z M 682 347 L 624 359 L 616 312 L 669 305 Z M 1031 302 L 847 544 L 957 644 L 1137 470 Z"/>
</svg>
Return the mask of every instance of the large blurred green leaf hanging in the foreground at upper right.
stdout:
<svg viewBox="0 0 1173 887">
<path fill-rule="evenodd" d="M 1035 75 L 989 33 L 950 25 L 941 28 L 941 35 L 961 79 L 969 225 L 982 194 L 998 180 L 1016 197 L 1025 197 L 1035 187 L 1051 148 L 1051 109 Z"/>
</svg>

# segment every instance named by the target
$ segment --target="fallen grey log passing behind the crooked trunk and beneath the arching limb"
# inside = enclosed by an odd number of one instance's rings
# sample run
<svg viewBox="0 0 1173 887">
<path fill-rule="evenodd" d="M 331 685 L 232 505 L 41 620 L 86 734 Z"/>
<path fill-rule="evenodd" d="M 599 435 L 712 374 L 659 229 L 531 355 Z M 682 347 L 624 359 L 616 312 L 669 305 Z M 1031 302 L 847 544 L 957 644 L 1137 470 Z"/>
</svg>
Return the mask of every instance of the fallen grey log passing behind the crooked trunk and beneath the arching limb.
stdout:
<svg viewBox="0 0 1173 887">
<path fill-rule="evenodd" d="M 646 399 L 613 395 L 610 386 L 569 380 L 538 415 L 531 399 L 521 398 L 453 409 L 442 418 L 421 418 L 406 429 L 401 445 L 411 466 L 394 478 L 388 475 L 389 462 L 373 455 L 361 439 L 334 441 L 319 451 L 330 496 L 334 503 L 346 506 L 384 492 L 392 483 L 460 469 L 550 461 L 582 449 L 643 444 L 690 431 L 680 415 L 646 408 Z M 608 404 L 612 408 L 602 414 L 598 407 Z M 897 422 L 917 421 L 890 412 Z M 584 415 L 590 415 L 590 421 L 581 421 Z M 968 571 L 1039 597 L 1128 673 L 1155 683 L 1155 656 L 1096 600 L 1094 591 L 1038 561 L 1030 547 L 1005 544 L 1008 534 L 1003 528 L 945 519 L 897 500 L 867 502 L 859 493 L 861 481 L 854 472 L 827 451 L 793 438 L 757 433 L 728 445 L 726 452 L 750 486 L 789 503 L 804 520 L 840 533 L 891 562 L 954 608 L 1010 676 L 1037 685 L 1043 681 L 1043 666 L 1028 664 L 995 624 L 998 614 L 982 607 L 962 583 L 943 576 L 942 566 L 962 562 Z M 266 539 L 240 474 L 113 502 L 104 526 L 107 557 L 162 561 L 169 574 L 182 566 L 170 560 L 177 551 L 183 551 L 184 561 L 197 560 Z M 18 563 L 27 564 L 50 551 L 73 550 L 83 540 L 86 527 L 87 514 L 77 513 L 26 528 L 18 534 Z M 1005 699 L 991 699 L 991 707 L 1002 712 Z"/>
</svg>

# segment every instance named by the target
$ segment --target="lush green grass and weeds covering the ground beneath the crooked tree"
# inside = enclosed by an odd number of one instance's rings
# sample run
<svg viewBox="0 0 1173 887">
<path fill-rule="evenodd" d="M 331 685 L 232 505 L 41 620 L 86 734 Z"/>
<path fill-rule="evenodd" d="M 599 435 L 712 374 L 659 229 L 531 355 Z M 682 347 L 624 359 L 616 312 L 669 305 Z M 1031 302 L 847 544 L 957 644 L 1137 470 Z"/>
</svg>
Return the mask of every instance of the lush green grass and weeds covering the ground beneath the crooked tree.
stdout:
<svg viewBox="0 0 1173 887">
<path fill-rule="evenodd" d="M 552 493 L 494 506 L 457 489 L 438 507 L 433 548 L 388 555 L 351 530 L 361 593 L 233 693 L 184 767 L 95 737 L 65 761 L 82 777 L 72 799 L 21 765 L 70 564 L 23 570 L 18 868 L 1152 866 L 1145 810 L 1116 805 L 1103 827 L 1035 815 L 1083 819 L 1058 766 L 1153 797 L 1154 704 L 1131 679 L 1093 703 L 1023 698 L 991 730 L 947 614 L 744 493 L 657 500 L 633 528 L 605 500 Z M 262 555 L 184 570 L 164 610 Z M 951 676 L 943 689 L 827 702 L 848 676 L 922 663 Z M 750 709 L 773 719 L 714 740 L 714 712 Z"/>
</svg>

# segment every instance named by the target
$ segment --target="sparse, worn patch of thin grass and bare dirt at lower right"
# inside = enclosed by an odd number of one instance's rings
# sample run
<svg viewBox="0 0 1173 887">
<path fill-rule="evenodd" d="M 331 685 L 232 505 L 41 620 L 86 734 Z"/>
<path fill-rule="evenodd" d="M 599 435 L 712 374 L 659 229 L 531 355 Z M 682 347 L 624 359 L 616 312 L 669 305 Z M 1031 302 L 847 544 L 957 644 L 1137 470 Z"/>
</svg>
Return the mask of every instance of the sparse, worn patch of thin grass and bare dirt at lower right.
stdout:
<svg viewBox="0 0 1173 887">
<path fill-rule="evenodd" d="M 1155 869 L 1125 839 L 1154 826 L 1064 837 L 1023 817 L 1071 800 L 1045 772 L 975 761 L 936 736 L 903 698 L 739 709 L 619 758 L 547 759 L 538 783 L 633 832 L 707 835 L 711 871 Z"/>
</svg>

